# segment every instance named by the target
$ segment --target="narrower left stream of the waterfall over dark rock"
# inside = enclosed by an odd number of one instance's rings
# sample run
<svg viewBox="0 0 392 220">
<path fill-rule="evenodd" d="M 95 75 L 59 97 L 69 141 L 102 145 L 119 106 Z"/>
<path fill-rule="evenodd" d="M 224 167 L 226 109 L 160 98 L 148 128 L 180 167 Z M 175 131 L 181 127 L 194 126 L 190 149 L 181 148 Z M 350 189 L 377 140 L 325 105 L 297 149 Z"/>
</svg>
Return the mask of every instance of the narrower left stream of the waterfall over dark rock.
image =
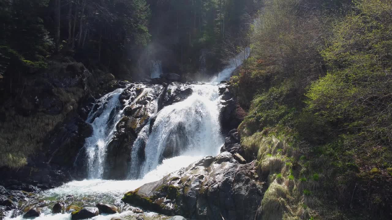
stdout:
<svg viewBox="0 0 392 220">
<path fill-rule="evenodd" d="M 122 100 L 123 105 L 121 105 L 119 100 L 120 95 L 128 88 L 130 88 L 128 92 L 129 97 L 126 100 Z M 124 109 L 128 106 L 133 106 L 142 97 L 157 92 L 156 88 L 157 87 L 146 87 L 146 85 L 143 84 L 130 84 L 125 88 L 118 88 L 113 92 L 109 92 L 96 101 L 86 120 L 87 123 L 91 124 L 93 134 L 86 139 L 83 147 L 86 153 L 87 174 L 89 179 L 102 178 L 107 146 L 114 138 L 116 125 L 124 116 Z M 160 90 L 158 93 L 159 92 Z M 151 99 L 151 102 L 146 107 L 146 111 L 152 111 L 152 114 L 154 114 L 157 109 L 157 101 Z"/>
</svg>

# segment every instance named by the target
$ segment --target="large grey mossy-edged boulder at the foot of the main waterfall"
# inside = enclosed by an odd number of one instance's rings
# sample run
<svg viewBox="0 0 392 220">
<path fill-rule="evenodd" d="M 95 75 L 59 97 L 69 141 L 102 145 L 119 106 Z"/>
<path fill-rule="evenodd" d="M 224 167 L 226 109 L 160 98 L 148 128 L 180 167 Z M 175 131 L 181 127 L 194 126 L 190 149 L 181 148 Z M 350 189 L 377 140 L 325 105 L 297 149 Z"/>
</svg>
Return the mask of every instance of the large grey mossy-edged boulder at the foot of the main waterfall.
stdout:
<svg viewBox="0 0 392 220">
<path fill-rule="evenodd" d="M 253 220 L 263 195 L 254 168 L 223 152 L 130 191 L 122 200 L 191 219 Z"/>
</svg>

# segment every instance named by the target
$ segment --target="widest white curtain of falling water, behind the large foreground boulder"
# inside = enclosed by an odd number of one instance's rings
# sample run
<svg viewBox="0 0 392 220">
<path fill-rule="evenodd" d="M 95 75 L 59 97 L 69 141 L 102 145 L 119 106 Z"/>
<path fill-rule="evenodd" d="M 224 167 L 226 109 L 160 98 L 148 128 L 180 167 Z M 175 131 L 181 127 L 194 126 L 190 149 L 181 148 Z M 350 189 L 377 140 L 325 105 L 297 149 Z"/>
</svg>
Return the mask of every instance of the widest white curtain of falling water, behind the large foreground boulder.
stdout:
<svg viewBox="0 0 392 220">
<path fill-rule="evenodd" d="M 219 153 L 223 137 L 220 135 L 218 87 L 215 84 L 192 87 L 193 93 L 187 99 L 158 112 L 150 135 L 150 124 L 142 129 L 132 148 L 130 178 L 143 177 L 154 170 L 166 153 L 194 157 Z M 144 161 L 138 155 L 142 147 L 145 147 Z"/>
</svg>

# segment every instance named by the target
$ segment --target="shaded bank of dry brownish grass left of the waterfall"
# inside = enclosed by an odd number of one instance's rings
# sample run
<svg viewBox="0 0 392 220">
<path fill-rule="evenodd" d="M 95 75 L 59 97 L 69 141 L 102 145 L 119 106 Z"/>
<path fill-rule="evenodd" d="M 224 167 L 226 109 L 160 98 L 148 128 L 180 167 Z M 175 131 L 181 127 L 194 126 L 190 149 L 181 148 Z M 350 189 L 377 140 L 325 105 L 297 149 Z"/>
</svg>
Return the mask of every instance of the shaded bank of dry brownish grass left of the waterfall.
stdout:
<svg viewBox="0 0 392 220">
<path fill-rule="evenodd" d="M 45 136 L 54 127 L 65 119 L 65 115 L 74 108 L 83 96 L 80 88 L 64 90 L 55 88 L 54 94 L 63 103 L 63 110 L 58 115 L 49 115 L 43 112 L 31 114 L 27 117 L 18 114 L 14 108 L 0 110 L 5 114 L 4 123 L 0 124 L 0 166 L 19 168 L 27 164 L 27 157 L 37 152 Z M 20 105 L 26 109 L 34 106 L 22 98 Z"/>
</svg>

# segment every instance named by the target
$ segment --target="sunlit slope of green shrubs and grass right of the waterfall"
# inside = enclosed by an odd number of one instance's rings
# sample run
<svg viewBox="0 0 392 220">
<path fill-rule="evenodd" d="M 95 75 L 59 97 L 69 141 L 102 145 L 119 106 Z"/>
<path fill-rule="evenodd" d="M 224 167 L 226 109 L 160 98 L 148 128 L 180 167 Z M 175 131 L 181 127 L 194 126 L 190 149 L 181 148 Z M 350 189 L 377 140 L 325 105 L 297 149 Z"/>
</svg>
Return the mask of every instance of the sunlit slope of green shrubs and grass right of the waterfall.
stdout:
<svg viewBox="0 0 392 220">
<path fill-rule="evenodd" d="M 390 219 L 392 1 L 270 0 L 231 78 L 261 219 Z"/>
</svg>

